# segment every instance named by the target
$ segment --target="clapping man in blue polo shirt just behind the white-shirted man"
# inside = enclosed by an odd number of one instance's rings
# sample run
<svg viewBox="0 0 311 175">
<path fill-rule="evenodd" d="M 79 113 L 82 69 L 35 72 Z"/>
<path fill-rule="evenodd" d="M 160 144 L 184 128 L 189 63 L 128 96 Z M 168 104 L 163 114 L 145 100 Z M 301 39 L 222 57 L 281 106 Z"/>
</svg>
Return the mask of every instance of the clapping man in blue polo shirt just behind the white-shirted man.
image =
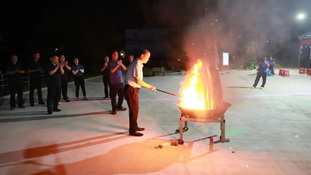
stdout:
<svg viewBox="0 0 311 175">
<path fill-rule="evenodd" d="M 114 51 L 111 60 L 108 62 L 108 69 L 110 70 L 110 97 L 113 115 L 116 115 L 117 111 L 126 110 L 126 108 L 122 107 L 124 99 L 122 69 L 126 70 L 126 67 L 122 64 L 122 60 L 118 60 L 118 56 L 118 52 Z M 116 100 L 117 94 L 118 104 Z"/>
</svg>

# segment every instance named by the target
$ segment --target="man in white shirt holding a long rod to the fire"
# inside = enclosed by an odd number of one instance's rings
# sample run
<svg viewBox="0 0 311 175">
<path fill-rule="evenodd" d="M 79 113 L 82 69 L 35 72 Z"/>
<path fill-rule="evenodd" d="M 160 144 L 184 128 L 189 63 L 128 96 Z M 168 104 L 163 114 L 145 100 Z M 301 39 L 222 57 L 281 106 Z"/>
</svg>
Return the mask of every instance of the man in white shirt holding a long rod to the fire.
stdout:
<svg viewBox="0 0 311 175">
<path fill-rule="evenodd" d="M 137 126 L 138 117 L 138 91 L 140 87 L 149 88 L 151 91 L 156 91 L 156 87 L 142 81 L 142 64 L 146 64 L 150 58 L 148 50 L 142 50 L 142 54 L 138 59 L 134 60 L 129 66 L 125 76 L 124 97 L 128 103 L 130 127 L 129 134 L 133 136 L 143 136 L 138 131 L 143 131 L 145 128 Z"/>
</svg>

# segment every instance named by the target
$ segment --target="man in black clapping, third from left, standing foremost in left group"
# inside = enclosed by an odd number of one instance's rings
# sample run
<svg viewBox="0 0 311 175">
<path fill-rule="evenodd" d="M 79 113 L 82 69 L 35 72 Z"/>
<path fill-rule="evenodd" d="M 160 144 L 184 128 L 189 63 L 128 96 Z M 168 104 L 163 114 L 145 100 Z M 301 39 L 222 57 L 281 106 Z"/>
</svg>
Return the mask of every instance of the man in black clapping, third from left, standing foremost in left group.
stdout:
<svg viewBox="0 0 311 175">
<path fill-rule="evenodd" d="M 62 111 L 58 109 L 58 102 L 62 87 L 61 75 L 64 74 L 63 67 L 65 66 L 65 64 L 58 63 L 58 56 L 53 56 L 50 60 L 51 63 L 47 64 L 46 66 L 48 85 L 48 97 L 46 102 L 48 107 L 48 114 L 53 114 L 52 111 Z"/>
</svg>

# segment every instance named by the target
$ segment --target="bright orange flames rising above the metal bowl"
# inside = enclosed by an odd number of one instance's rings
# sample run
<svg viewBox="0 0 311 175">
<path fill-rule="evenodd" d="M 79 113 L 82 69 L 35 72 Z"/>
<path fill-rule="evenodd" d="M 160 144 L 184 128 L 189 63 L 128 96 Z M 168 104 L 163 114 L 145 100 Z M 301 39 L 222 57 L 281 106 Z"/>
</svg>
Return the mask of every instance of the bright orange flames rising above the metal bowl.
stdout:
<svg viewBox="0 0 311 175">
<path fill-rule="evenodd" d="M 202 66 L 203 63 L 199 60 L 183 82 L 180 107 L 197 110 L 214 109 L 211 89 L 209 89 L 211 83 L 206 82 L 211 81 L 211 72 L 209 69 L 202 69 Z"/>
</svg>

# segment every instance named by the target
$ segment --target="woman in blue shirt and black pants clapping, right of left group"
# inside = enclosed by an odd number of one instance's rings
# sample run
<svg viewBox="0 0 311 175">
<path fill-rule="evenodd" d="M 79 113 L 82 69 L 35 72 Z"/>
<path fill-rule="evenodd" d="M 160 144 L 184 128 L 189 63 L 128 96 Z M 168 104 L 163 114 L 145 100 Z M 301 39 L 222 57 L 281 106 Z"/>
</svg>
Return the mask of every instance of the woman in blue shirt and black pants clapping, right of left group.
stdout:
<svg viewBox="0 0 311 175">
<path fill-rule="evenodd" d="M 83 93 L 83 99 L 84 100 L 87 100 L 86 98 L 86 92 L 85 92 L 85 85 L 84 85 L 84 77 L 83 77 L 83 73 L 84 73 L 84 68 L 81 64 L 78 64 L 79 63 L 79 60 L 78 58 L 75 58 L 73 60 L 73 63 L 75 65 L 73 65 L 71 67 L 71 70 L 72 70 L 72 73 L 75 77 L 75 85 L 76 85 L 76 97 L 77 97 L 77 101 L 80 101 L 80 98 L 79 98 L 79 88 L 81 86 L 81 89 L 82 89 L 82 93 Z"/>
</svg>

